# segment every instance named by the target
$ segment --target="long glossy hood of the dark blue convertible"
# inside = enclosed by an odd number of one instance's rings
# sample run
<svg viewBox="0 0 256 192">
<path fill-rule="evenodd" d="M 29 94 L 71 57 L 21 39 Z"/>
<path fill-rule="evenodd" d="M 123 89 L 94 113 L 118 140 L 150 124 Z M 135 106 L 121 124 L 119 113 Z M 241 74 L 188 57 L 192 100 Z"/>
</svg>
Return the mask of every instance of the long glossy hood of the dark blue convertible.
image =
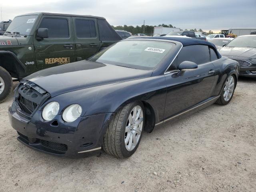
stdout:
<svg viewBox="0 0 256 192">
<path fill-rule="evenodd" d="M 41 70 L 24 79 L 34 82 L 54 97 L 65 92 L 151 75 L 149 70 L 82 60 Z"/>
</svg>

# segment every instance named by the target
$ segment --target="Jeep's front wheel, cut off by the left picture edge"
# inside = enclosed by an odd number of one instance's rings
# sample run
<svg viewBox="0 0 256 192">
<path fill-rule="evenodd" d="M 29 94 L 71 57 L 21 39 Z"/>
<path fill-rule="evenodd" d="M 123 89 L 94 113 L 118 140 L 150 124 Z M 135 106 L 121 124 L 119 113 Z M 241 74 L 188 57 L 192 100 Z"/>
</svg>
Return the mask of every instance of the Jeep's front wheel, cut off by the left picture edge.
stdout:
<svg viewBox="0 0 256 192">
<path fill-rule="evenodd" d="M 0 103 L 4 102 L 13 87 L 12 77 L 9 72 L 0 66 Z"/>
</svg>

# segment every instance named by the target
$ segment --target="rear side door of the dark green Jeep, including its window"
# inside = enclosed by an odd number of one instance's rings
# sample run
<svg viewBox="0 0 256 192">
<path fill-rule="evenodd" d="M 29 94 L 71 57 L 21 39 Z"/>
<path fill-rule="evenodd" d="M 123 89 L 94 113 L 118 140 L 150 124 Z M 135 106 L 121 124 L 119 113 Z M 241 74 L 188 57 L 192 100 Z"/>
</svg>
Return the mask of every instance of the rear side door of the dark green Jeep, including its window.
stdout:
<svg viewBox="0 0 256 192">
<path fill-rule="evenodd" d="M 100 48 L 96 18 L 72 17 L 76 60 L 84 60 L 96 54 Z"/>
</svg>

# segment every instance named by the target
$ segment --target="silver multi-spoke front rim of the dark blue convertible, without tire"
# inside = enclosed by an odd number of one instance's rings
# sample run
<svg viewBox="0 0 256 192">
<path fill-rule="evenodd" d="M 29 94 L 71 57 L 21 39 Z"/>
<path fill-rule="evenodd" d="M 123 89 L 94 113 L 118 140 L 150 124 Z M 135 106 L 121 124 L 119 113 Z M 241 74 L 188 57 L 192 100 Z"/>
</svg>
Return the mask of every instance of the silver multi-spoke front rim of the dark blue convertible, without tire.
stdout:
<svg viewBox="0 0 256 192">
<path fill-rule="evenodd" d="M 135 106 L 126 122 L 126 128 L 124 133 L 124 144 L 128 151 L 132 151 L 140 140 L 140 135 L 143 127 L 143 111 L 142 108 Z"/>
</svg>

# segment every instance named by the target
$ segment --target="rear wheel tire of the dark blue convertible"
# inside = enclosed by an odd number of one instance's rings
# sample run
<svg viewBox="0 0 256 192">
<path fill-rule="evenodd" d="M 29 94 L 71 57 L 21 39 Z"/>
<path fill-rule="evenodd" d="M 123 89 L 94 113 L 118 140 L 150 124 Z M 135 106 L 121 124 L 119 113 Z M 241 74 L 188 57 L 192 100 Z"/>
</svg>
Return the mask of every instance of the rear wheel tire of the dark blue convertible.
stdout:
<svg viewBox="0 0 256 192">
<path fill-rule="evenodd" d="M 230 79 L 232 79 L 232 81 L 233 81 L 231 83 L 231 84 L 233 84 L 233 88 L 232 88 L 232 92 L 230 92 L 230 94 L 231 94 L 230 97 L 226 97 L 226 94 L 224 94 L 224 93 L 227 92 L 226 90 L 229 90 L 228 89 L 228 86 L 229 86 L 228 84 L 229 84 L 229 80 Z M 231 99 L 232 99 L 232 97 L 234 95 L 235 88 L 236 88 L 236 78 L 235 78 L 235 76 L 230 75 L 227 78 L 224 87 L 222 88 L 222 91 L 220 93 L 220 98 L 218 98 L 218 100 L 216 101 L 216 104 L 219 104 L 219 105 L 226 105 L 226 104 L 228 104 L 231 101 Z"/>
</svg>

